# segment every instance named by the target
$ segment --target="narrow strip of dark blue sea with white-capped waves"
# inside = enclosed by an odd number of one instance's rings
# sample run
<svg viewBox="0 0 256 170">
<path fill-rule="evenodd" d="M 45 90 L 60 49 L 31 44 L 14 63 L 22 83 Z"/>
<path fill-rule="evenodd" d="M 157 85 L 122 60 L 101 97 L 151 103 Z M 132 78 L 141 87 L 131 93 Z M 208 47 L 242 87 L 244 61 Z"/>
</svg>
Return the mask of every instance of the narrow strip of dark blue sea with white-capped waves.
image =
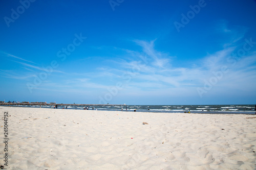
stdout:
<svg viewBox="0 0 256 170">
<path fill-rule="evenodd" d="M 65 105 L 57 109 L 83 110 L 83 106 Z M 53 106 L 17 106 L 17 107 L 42 107 L 53 108 Z M 87 106 L 89 110 L 127 111 L 127 112 L 155 112 L 155 113 L 212 113 L 212 114 L 255 114 L 255 105 L 95 105 Z M 127 107 L 127 109 L 126 109 Z"/>
</svg>

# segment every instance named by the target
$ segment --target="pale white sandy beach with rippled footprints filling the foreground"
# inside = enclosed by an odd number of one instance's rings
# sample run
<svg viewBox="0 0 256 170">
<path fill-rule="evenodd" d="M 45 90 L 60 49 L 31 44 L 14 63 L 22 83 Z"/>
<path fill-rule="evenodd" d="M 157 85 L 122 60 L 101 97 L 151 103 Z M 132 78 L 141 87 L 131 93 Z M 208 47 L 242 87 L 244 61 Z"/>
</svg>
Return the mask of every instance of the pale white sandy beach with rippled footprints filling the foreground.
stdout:
<svg viewBox="0 0 256 170">
<path fill-rule="evenodd" d="M 256 115 L 0 108 L 8 169 L 255 169 Z"/>
</svg>

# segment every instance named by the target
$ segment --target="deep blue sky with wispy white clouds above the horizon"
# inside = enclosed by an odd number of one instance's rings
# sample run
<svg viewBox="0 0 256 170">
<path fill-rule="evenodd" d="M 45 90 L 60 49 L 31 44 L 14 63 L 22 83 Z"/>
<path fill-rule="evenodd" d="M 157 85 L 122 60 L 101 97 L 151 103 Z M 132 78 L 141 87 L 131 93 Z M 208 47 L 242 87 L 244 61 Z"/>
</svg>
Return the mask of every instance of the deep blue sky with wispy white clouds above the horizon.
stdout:
<svg viewBox="0 0 256 170">
<path fill-rule="evenodd" d="M 256 1 L 0 1 L 0 101 L 256 103 Z"/>
</svg>

